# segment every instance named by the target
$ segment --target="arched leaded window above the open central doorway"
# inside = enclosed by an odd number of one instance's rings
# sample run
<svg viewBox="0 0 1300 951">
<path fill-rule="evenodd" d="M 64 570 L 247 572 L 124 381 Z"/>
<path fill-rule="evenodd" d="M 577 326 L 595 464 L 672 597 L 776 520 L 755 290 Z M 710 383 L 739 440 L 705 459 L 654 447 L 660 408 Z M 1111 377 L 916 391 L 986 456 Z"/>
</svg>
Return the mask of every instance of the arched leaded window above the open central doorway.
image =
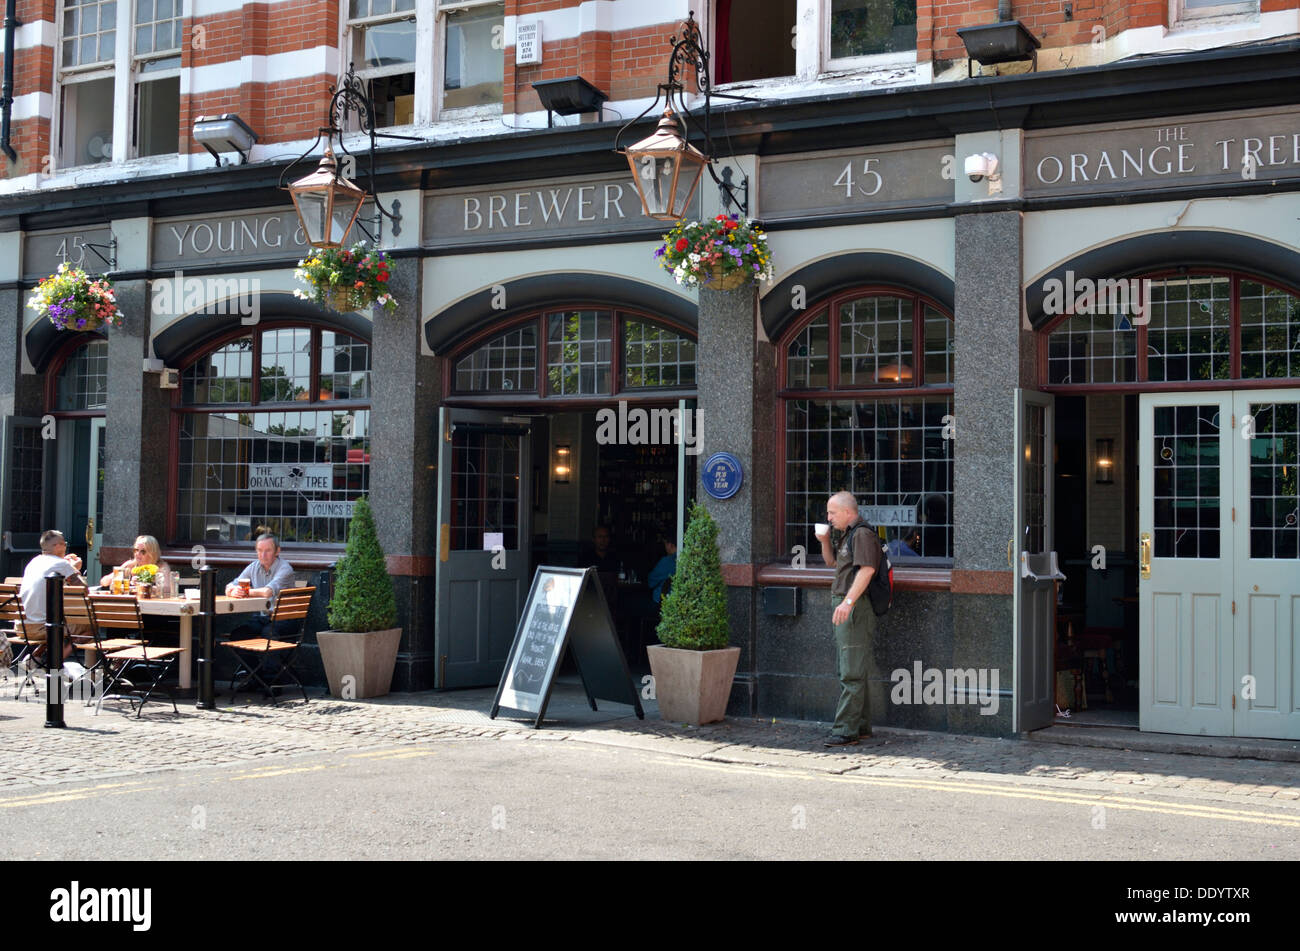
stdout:
<svg viewBox="0 0 1300 951">
<path fill-rule="evenodd" d="M 601 308 L 533 314 L 452 362 L 451 390 L 467 395 L 567 399 L 696 386 L 692 338 L 653 317 Z"/>
</svg>

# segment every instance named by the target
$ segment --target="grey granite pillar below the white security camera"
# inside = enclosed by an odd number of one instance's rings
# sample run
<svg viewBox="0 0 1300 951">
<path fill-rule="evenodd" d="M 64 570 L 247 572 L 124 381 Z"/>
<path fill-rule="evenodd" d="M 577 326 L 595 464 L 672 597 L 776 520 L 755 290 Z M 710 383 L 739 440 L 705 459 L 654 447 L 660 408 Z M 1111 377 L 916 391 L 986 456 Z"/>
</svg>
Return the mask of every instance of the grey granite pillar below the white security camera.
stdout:
<svg viewBox="0 0 1300 951">
<path fill-rule="evenodd" d="M 949 705 L 948 729 L 1006 734 L 1014 685 L 1014 576 L 1006 546 L 1015 533 L 1015 388 L 1022 379 L 1019 212 L 974 212 L 956 220 L 953 326 L 953 652 L 954 668 L 998 670 L 994 716 Z M 1024 342 L 1027 348 L 1028 340 Z"/>
</svg>

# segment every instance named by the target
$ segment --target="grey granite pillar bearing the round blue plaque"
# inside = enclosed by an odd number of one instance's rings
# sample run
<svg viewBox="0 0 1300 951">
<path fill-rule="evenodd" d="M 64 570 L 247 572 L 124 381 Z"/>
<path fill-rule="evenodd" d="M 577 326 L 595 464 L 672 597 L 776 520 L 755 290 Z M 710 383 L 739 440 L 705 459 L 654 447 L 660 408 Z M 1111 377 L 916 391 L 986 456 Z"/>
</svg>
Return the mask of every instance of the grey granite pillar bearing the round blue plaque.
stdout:
<svg viewBox="0 0 1300 951">
<path fill-rule="evenodd" d="M 776 357 L 758 339 L 758 294 L 753 285 L 734 291 L 699 291 L 699 346 L 696 382 L 703 426 L 698 461 L 729 452 L 744 468 L 740 491 L 729 499 L 696 495 L 718 522 L 718 547 L 727 581 L 731 642 L 741 648 L 728 712 L 753 716 L 758 705 L 755 637 L 759 565 L 772 559 L 776 457 Z"/>
</svg>

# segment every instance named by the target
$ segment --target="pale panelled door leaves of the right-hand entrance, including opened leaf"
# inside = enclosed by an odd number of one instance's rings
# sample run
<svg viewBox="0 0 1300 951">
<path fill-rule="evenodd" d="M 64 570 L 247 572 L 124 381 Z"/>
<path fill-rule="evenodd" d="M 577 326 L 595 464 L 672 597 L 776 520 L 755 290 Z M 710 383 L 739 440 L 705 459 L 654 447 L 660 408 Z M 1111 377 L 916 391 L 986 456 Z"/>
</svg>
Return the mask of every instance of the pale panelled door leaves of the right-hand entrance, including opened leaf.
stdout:
<svg viewBox="0 0 1300 951">
<path fill-rule="evenodd" d="M 1054 712 L 1052 417 L 1018 392 L 1017 730 Z M 1300 390 L 1143 394 L 1138 430 L 1141 729 L 1300 738 Z"/>
</svg>

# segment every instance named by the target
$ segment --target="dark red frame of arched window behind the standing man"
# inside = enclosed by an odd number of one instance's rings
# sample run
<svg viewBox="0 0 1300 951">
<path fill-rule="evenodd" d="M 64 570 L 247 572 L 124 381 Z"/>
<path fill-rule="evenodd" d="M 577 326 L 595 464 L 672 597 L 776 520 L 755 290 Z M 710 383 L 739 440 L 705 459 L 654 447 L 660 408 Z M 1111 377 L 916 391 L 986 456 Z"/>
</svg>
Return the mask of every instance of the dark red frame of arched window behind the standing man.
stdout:
<svg viewBox="0 0 1300 951">
<path fill-rule="evenodd" d="M 870 296 L 893 296 L 911 299 L 913 301 L 913 360 L 919 370 L 919 382 L 914 374 L 914 382 L 910 386 L 900 386 L 897 383 L 871 383 L 871 385 L 845 385 L 840 386 L 840 321 L 837 311 L 841 304 L 857 300 L 861 298 Z M 950 329 L 956 329 L 956 320 L 953 317 L 952 309 L 941 304 L 937 299 L 931 295 L 914 291 L 907 287 L 900 287 L 896 285 L 858 285 L 846 290 L 836 291 L 829 294 L 814 305 L 807 308 L 807 312 L 801 314 L 797 321 L 792 321 L 785 326 L 780 336 L 775 342 L 777 352 L 777 390 L 776 400 L 779 404 L 776 416 L 776 500 L 779 507 L 779 514 L 775 521 L 775 535 L 776 535 L 776 551 L 788 551 L 790 540 L 786 538 L 786 466 L 790 463 L 789 459 L 789 438 L 786 427 L 786 405 L 792 400 L 819 400 L 826 403 L 836 401 L 855 401 L 855 400 L 890 400 L 896 399 L 900 401 L 914 400 L 918 403 L 926 403 L 935 399 L 952 400 L 956 392 L 956 381 L 949 381 L 946 383 L 926 383 L 924 382 L 924 364 L 926 364 L 926 312 L 927 309 L 935 309 L 942 314 L 950 325 Z M 790 343 L 802 334 L 810 323 L 816 321 L 822 314 L 827 314 L 827 334 L 828 348 L 827 348 L 827 386 L 818 388 L 794 388 L 789 387 L 788 379 L 788 356 Z M 952 333 L 949 334 L 949 342 L 954 342 Z M 956 373 L 956 360 L 958 353 L 956 349 L 952 351 L 952 366 L 953 373 Z M 953 490 L 949 490 L 950 492 Z M 952 496 L 949 496 L 948 516 L 949 525 L 956 524 L 952 521 L 954 517 L 954 505 Z M 920 577 L 939 582 L 940 579 L 946 579 L 950 577 L 953 570 L 952 559 L 924 559 L 913 560 L 906 559 L 902 561 L 896 561 L 897 566 L 906 572 L 920 572 Z M 923 582 L 928 583 L 928 582 Z"/>
</svg>

